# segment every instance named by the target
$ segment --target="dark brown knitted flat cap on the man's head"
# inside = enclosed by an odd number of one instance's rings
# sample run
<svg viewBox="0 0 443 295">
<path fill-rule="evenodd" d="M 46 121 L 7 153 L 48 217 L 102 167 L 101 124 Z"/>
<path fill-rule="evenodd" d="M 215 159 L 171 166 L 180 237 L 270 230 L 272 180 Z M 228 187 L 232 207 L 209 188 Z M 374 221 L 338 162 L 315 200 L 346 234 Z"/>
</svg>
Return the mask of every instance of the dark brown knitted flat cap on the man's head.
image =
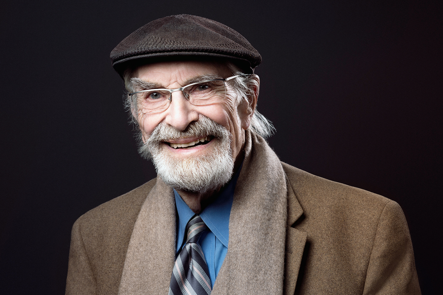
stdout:
<svg viewBox="0 0 443 295">
<path fill-rule="evenodd" d="M 258 51 L 237 31 L 195 15 L 155 19 L 124 38 L 111 52 L 111 61 L 123 77 L 128 66 L 168 59 L 229 58 L 245 73 L 260 64 Z"/>
</svg>

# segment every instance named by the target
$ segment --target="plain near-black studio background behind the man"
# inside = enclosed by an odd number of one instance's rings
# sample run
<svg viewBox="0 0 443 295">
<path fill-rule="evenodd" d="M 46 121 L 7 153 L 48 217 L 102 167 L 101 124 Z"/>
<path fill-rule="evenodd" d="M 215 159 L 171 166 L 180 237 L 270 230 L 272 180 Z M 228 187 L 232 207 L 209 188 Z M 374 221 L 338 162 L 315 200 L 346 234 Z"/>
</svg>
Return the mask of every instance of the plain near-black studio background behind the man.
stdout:
<svg viewBox="0 0 443 295">
<path fill-rule="evenodd" d="M 260 52 L 280 158 L 400 203 L 423 294 L 441 282 L 442 13 L 424 1 L 1 4 L 0 293 L 63 294 L 74 221 L 155 177 L 110 51 L 163 16 L 232 27 Z"/>
</svg>

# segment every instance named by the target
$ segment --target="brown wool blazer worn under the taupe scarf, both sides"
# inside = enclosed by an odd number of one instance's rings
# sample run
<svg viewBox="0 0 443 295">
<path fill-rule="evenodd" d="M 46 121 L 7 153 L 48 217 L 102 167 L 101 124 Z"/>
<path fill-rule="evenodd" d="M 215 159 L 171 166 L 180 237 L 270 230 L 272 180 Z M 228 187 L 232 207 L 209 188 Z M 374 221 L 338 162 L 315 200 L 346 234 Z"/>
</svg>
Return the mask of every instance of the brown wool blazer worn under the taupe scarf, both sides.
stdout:
<svg viewBox="0 0 443 295">
<path fill-rule="evenodd" d="M 396 202 L 282 165 L 288 176 L 284 294 L 421 294 Z M 66 294 L 118 293 L 132 228 L 155 182 L 74 223 Z"/>
</svg>

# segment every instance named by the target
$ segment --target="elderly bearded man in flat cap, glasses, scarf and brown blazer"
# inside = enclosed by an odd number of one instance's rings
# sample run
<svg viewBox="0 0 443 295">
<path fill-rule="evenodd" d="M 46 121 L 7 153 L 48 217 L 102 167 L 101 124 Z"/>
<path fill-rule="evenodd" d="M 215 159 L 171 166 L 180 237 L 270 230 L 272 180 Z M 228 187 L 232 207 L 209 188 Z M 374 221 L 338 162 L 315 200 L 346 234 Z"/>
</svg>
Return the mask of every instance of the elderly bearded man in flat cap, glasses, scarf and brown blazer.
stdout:
<svg viewBox="0 0 443 295">
<path fill-rule="evenodd" d="M 268 146 L 243 36 L 173 15 L 111 59 L 158 177 L 75 222 L 66 294 L 420 294 L 397 203 Z"/>
</svg>

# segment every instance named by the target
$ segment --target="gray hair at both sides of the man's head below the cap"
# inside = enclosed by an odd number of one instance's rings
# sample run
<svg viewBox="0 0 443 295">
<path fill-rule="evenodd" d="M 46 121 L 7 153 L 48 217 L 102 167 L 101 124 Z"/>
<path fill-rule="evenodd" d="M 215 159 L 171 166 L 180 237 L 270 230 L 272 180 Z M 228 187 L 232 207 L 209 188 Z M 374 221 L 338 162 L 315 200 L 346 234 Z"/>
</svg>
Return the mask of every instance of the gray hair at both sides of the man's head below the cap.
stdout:
<svg viewBox="0 0 443 295">
<path fill-rule="evenodd" d="M 232 74 L 240 75 L 239 77 L 230 80 L 233 81 L 233 86 L 237 95 L 239 97 L 238 103 L 241 100 L 248 100 L 248 98 L 254 95 L 254 88 L 260 88 L 260 80 L 256 74 L 244 74 L 241 72 L 241 69 L 238 68 L 230 61 L 226 61 L 226 66 L 231 70 Z M 123 74 L 124 87 L 128 91 L 128 93 L 135 92 L 136 89 L 136 79 L 132 79 L 133 69 L 126 69 Z M 229 81 L 229 82 L 230 82 Z M 125 95 L 124 98 L 124 106 L 130 111 L 130 122 L 134 124 L 136 130 L 140 130 L 140 126 L 137 118 L 137 106 L 136 102 L 132 101 L 131 96 Z M 263 138 L 268 138 L 275 133 L 275 127 L 272 125 L 272 122 L 269 121 L 264 115 L 260 114 L 257 110 L 254 111 L 253 117 L 251 119 L 251 124 L 249 125 L 249 130 L 251 132 L 262 136 Z M 141 139 L 141 134 L 139 134 Z"/>
</svg>

